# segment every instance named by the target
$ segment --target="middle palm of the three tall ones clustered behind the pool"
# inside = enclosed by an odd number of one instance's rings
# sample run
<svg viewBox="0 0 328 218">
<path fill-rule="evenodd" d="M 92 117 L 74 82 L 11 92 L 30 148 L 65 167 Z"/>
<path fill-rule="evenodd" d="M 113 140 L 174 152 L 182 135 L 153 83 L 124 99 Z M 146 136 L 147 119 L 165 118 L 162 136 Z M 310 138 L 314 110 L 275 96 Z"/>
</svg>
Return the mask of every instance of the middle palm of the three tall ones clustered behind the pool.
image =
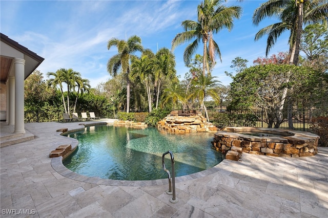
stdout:
<svg viewBox="0 0 328 218">
<path fill-rule="evenodd" d="M 154 54 L 150 50 L 145 50 L 142 52 L 140 58 L 134 57 L 131 63 L 131 77 L 139 77 L 146 85 L 147 97 L 148 97 L 148 108 L 149 112 L 152 112 L 152 98 L 150 90 L 150 77 L 153 71 L 153 57 Z"/>
</svg>

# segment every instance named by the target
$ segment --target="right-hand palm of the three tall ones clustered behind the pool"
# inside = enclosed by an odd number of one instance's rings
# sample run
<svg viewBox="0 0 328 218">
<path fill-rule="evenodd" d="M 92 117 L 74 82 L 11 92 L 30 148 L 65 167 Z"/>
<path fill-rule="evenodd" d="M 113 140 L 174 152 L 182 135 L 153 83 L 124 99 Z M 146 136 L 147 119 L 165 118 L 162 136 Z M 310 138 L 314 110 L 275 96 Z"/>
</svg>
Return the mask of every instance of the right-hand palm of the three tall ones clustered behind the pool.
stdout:
<svg viewBox="0 0 328 218">
<path fill-rule="evenodd" d="M 154 59 L 154 86 L 157 88 L 156 91 L 156 109 L 158 107 L 158 99 L 160 92 L 161 80 L 164 78 L 175 78 L 175 56 L 167 48 L 161 48 L 156 52 L 156 57 Z"/>
</svg>

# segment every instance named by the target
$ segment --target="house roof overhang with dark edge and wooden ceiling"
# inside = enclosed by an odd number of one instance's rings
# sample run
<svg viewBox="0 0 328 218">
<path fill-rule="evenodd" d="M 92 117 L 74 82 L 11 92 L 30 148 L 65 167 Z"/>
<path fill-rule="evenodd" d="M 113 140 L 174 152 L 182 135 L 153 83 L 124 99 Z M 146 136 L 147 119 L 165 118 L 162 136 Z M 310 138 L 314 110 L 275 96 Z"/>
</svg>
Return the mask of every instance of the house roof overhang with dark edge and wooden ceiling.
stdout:
<svg viewBox="0 0 328 218">
<path fill-rule="evenodd" d="M 33 71 L 44 61 L 43 57 L 38 56 L 36 53 L 30 51 L 26 47 L 20 45 L 18 42 L 12 40 L 3 33 L 1 34 L 1 70 L 0 81 L 6 82 L 10 75 L 14 76 L 13 59 L 22 58 L 16 57 L 14 54 L 23 54 L 25 59 L 25 72 L 24 78 L 26 79 Z M 6 46 L 8 45 L 8 46 Z"/>
</svg>

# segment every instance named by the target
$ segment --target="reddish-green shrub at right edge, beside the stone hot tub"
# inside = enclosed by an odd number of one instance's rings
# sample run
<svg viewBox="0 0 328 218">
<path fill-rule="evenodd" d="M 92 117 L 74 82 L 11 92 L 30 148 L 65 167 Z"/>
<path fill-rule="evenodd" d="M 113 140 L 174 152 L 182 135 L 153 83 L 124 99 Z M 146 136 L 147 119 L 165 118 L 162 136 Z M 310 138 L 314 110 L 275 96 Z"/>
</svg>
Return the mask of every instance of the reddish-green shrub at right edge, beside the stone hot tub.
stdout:
<svg viewBox="0 0 328 218">
<path fill-rule="evenodd" d="M 311 119 L 310 129 L 320 136 L 318 145 L 328 146 L 328 117 L 314 117 Z"/>
</svg>

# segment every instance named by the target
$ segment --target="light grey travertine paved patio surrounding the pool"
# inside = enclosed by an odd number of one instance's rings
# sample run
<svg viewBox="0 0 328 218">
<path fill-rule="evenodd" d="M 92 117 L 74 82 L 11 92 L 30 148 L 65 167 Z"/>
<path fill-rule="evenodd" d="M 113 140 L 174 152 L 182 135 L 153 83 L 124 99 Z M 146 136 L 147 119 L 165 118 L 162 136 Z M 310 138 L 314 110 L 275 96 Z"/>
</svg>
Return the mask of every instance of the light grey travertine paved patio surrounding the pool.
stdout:
<svg viewBox="0 0 328 218">
<path fill-rule="evenodd" d="M 22 210 L 35 212 L 28 217 L 328 217 L 327 147 L 313 157 L 223 160 L 177 178 L 173 204 L 167 180 L 114 184 L 76 176 L 49 158 L 58 145 L 76 143 L 56 129 L 91 122 L 26 123 L 33 140 L 0 148 L 1 217 Z M 6 129 L 1 123 L 1 134 Z"/>
</svg>

